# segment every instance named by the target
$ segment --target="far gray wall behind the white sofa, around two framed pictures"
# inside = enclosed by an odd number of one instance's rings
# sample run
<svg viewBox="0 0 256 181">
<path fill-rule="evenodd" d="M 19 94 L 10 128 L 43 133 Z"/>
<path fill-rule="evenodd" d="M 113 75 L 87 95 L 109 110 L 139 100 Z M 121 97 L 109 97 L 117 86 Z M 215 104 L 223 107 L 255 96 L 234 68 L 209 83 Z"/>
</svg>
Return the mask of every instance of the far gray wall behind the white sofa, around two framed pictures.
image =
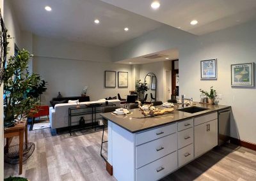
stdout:
<svg viewBox="0 0 256 181">
<path fill-rule="evenodd" d="M 43 104 L 48 105 L 58 92 L 80 96 L 85 85 L 92 101 L 117 96 L 118 92 L 125 98 L 132 89 L 131 66 L 111 62 L 108 48 L 34 36 L 33 54 L 33 72 L 48 82 Z M 104 71 L 116 71 L 116 88 L 104 87 Z M 117 71 L 128 72 L 129 87 L 117 87 Z"/>
</svg>

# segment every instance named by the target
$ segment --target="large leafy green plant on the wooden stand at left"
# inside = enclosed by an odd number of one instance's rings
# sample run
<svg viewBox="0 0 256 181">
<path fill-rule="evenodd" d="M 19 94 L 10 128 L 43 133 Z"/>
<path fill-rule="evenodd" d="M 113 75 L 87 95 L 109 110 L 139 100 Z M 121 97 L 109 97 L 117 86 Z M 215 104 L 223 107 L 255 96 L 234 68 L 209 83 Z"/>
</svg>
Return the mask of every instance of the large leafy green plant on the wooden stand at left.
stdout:
<svg viewBox="0 0 256 181">
<path fill-rule="evenodd" d="M 38 99 L 27 93 L 42 80 L 36 74 L 29 74 L 28 51 L 22 50 L 10 57 L 4 68 L 4 126 L 8 127 L 17 117 L 26 117 L 32 108 L 39 105 Z"/>
</svg>

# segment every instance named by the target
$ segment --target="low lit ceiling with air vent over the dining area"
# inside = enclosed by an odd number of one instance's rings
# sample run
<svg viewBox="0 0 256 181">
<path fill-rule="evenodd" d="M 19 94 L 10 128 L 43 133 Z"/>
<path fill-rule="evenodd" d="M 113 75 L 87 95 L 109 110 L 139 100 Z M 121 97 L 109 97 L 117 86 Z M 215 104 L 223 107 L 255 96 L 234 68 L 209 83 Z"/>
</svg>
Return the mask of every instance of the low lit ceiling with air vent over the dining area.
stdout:
<svg viewBox="0 0 256 181">
<path fill-rule="evenodd" d="M 148 59 L 150 55 L 161 55 L 163 57 L 159 57 L 156 59 Z M 165 59 L 168 58 L 168 59 Z M 177 48 L 163 50 L 161 52 L 155 52 L 154 54 L 143 55 L 140 57 L 135 57 L 132 59 L 125 59 L 124 61 L 119 61 L 120 64 L 148 64 L 152 62 L 161 62 L 161 61 L 172 61 L 179 59 L 179 50 Z"/>
</svg>

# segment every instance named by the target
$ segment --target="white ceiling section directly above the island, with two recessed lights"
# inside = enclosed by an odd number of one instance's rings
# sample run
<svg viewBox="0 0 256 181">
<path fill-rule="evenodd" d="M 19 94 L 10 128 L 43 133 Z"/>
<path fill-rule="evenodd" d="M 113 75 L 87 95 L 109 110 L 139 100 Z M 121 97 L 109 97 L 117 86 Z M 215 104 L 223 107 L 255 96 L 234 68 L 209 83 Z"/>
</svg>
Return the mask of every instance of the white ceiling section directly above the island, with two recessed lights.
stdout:
<svg viewBox="0 0 256 181">
<path fill-rule="evenodd" d="M 256 19 L 256 0 L 101 0 L 189 33 L 201 35 Z M 190 25 L 191 20 L 197 25 Z"/>
</svg>

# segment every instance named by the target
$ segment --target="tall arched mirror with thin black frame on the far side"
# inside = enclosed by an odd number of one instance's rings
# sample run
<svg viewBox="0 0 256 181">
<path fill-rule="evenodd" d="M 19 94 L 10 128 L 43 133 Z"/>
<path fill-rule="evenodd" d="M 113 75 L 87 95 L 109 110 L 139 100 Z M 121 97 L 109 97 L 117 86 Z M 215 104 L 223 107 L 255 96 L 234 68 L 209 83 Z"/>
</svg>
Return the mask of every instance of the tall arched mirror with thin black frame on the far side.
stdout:
<svg viewBox="0 0 256 181">
<path fill-rule="evenodd" d="M 156 75 L 147 73 L 144 82 L 147 83 L 148 87 L 148 91 L 144 93 L 144 101 L 148 103 L 156 101 Z"/>
</svg>

